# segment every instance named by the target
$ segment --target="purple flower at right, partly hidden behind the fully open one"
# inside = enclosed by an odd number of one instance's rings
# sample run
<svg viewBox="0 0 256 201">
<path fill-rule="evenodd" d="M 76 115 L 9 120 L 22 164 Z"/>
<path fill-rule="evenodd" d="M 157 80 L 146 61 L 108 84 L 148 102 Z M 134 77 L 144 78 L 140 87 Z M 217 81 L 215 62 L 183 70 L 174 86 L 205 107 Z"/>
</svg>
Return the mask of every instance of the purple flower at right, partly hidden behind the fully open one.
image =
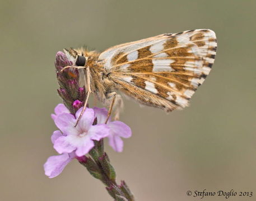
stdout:
<svg viewBox="0 0 256 201">
<path fill-rule="evenodd" d="M 94 111 L 97 117 L 97 123 L 105 123 L 108 116 L 108 110 L 106 108 L 94 107 Z M 123 140 L 121 137 L 128 138 L 132 136 L 132 131 L 129 126 L 120 121 L 113 121 L 109 118 L 107 125 L 110 128 L 109 131 L 109 145 L 117 152 L 123 151 Z"/>
</svg>

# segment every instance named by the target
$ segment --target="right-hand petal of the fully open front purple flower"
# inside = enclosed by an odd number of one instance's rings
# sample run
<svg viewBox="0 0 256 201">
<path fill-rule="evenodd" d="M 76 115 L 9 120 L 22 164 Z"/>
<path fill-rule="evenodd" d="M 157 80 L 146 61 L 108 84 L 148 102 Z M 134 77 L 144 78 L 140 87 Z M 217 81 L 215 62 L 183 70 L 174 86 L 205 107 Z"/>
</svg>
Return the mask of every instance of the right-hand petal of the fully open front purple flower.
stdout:
<svg viewBox="0 0 256 201">
<path fill-rule="evenodd" d="M 109 135 L 109 127 L 105 124 L 91 126 L 87 135 L 90 136 L 92 140 L 99 141 Z"/>
</svg>

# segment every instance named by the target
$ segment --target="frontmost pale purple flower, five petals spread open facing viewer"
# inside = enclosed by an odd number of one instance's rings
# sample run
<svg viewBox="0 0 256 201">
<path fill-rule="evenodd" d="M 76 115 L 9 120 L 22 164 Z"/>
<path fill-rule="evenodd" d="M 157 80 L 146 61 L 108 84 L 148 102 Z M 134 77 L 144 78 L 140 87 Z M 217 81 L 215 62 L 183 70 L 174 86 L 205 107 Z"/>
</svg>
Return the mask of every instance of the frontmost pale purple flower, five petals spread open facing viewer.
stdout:
<svg viewBox="0 0 256 201">
<path fill-rule="evenodd" d="M 82 108 L 78 109 L 75 116 L 70 113 L 62 113 L 54 119 L 55 125 L 63 133 L 54 141 L 53 146 L 59 154 L 75 151 L 77 156 L 84 156 L 94 147 L 93 140 L 99 141 L 109 135 L 109 127 L 104 123 L 92 126 L 95 112 L 91 108 L 86 108 L 75 127 L 81 112 Z"/>
</svg>

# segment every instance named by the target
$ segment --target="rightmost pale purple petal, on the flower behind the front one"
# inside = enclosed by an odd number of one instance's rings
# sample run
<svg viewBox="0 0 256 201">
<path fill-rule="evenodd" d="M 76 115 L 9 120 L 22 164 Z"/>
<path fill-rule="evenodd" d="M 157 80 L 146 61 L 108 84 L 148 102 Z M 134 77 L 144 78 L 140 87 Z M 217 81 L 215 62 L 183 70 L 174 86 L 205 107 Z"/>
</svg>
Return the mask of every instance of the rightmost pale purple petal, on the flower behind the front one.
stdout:
<svg viewBox="0 0 256 201">
<path fill-rule="evenodd" d="M 120 121 L 109 122 L 108 126 L 110 127 L 110 132 L 113 135 L 117 135 L 120 137 L 128 138 L 132 136 L 132 130 L 125 123 Z"/>
</svg>

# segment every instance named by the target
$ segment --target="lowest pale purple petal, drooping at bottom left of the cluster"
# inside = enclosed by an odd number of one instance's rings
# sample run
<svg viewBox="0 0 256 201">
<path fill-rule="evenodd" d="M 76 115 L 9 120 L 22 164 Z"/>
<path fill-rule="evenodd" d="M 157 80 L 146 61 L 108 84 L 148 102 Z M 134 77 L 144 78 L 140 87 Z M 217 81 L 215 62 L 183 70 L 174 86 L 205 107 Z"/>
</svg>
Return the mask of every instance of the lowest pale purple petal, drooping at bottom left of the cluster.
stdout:
<svg viewBox="0 0 256 201">
<path fill-rule="evenodd" d="M 50 156 L 44 164 L 44 173 L 49 178 L 54 178 L 62 173 L 64 167 L 73 159 L 68 154 Z"/>
</svg>

